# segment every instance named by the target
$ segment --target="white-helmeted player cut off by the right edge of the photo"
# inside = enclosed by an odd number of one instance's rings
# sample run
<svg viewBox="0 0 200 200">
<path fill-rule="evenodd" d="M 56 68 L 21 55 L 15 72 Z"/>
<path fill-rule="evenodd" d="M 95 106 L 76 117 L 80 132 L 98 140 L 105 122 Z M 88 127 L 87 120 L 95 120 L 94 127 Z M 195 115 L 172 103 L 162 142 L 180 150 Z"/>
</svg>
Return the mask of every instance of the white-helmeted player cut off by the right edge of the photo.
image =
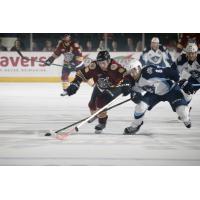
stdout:
<svg viewBox="0 0 200 200">
<path fill-rule="evenodd" d="M 182 92 L 189 104 L 192 95 L 199 89 L 192 84 L 200 84 L 200 54 L 195 43 L 188 43 L 185 53 L 182 53 L 172 64 L 172 68 L 177 69 L 180 74 L 179 84 L 183 88 Z"/>
</svg>

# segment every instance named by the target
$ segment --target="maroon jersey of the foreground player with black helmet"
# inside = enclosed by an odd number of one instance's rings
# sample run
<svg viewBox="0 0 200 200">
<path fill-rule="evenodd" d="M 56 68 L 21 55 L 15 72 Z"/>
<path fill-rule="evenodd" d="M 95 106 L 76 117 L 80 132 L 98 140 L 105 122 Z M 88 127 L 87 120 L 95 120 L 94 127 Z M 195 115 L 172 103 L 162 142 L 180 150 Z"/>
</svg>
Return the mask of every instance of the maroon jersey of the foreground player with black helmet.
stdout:
<svg viewBox="0 0 200 200">
<path fill-rule="evenodd" d="M 74 81 L 82 82 L 93 78 L 99 88 L 106 89 L 119 85 L 123 81 L 125 72 L 126 69 L 113 59 L 106 71 L 103 71 L 96 61 L 93 61 L 89 66 L 77 72 Z"/>
</svg>

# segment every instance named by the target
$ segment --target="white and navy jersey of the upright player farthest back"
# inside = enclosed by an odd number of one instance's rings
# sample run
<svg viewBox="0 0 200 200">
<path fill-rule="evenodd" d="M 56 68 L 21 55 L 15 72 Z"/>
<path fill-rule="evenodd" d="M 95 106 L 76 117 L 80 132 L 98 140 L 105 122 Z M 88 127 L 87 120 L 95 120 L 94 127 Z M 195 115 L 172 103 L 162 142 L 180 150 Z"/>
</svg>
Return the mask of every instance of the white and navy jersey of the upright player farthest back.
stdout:
<svg viewBox="0 0 200 200">
<path fill-rule="evenodd" d="M 173 61 L 169 51 L 165 47 L 159 46 L 159 49 L 156 51 L 151 48 L 145 49 L 140 56 L 140 62 L 143 66 L 170 67 Z"/>
</svg>

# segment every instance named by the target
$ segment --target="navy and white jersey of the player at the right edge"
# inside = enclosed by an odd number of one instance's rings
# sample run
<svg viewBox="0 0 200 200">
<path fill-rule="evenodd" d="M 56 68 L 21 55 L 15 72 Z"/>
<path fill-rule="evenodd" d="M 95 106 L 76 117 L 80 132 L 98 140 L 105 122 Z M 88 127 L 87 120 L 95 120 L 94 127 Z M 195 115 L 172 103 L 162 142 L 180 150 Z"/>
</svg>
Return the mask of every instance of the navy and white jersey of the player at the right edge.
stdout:
<svg viewBox="0 0 200 200">
<path fill-rule="evenodd" d="M 179 71 L 181 79 L 193 78 L 200 83 L 200 54 L 197 54 L 195 61 L 188 61 L 186 54 L 181 54 L 175 63 L 172 64 L 172 68 Z"/>
</svg>

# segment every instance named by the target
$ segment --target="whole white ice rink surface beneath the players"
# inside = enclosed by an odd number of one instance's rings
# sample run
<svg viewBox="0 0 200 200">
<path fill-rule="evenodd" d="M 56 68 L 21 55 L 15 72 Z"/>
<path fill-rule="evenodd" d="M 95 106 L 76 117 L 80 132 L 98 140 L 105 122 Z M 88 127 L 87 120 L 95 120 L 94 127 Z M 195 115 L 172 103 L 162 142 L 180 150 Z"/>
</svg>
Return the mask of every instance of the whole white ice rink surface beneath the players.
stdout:
<svg viewBox="0 0 200 200">
<path fill-rule="evenodd" d="M 200 165 L 198 93 L 192 101 L 191 129 L 163 102 L 146 113 L 137 135 L 124 136 L 135 106 L 128 102 L 109 111 L 103 134 L 94 134 L 93 122 L 60 141 L 43 134 L 87 117 L 92 88 L 82 84 L 72 97 L 60 97 L 61 92 L 58 83 L 0 83 L 1 166 Z"/>
</svg>

